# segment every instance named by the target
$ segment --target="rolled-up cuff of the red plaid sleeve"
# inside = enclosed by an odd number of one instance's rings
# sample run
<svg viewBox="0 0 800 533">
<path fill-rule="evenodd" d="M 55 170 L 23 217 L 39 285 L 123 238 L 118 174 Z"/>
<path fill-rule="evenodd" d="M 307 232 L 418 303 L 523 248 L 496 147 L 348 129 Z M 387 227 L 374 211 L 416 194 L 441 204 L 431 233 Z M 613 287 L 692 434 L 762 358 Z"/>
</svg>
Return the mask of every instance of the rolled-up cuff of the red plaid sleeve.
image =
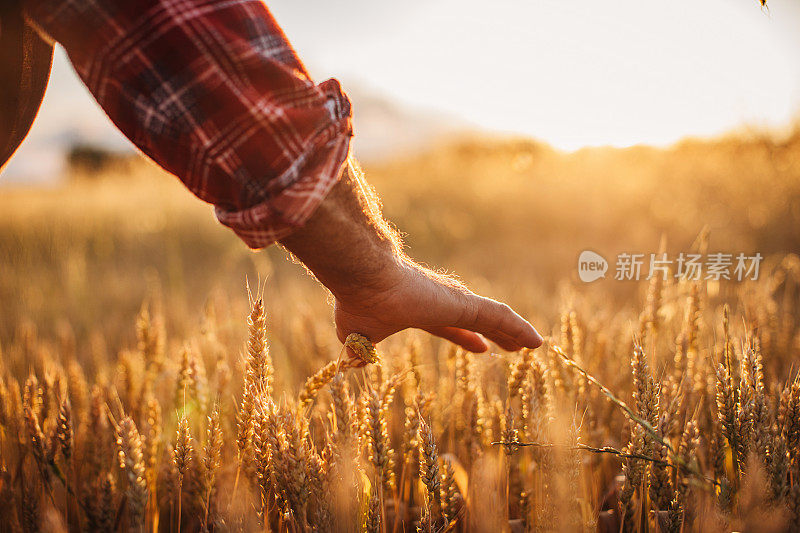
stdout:
<svg viewBox="0 0 800 533">
<path fill-rule="evenodd" d="M 220 223 L 252 249 L 269 246 L 305 224 L 341 176 L 353 136 L 350 101 L 336 80 L 327 80 L 319 87 L 326 94 L 331 123 L 274 179 L 273 183 L 281 187 L 278 192 L 246 209 L 214 209 Z"/>
</svg>

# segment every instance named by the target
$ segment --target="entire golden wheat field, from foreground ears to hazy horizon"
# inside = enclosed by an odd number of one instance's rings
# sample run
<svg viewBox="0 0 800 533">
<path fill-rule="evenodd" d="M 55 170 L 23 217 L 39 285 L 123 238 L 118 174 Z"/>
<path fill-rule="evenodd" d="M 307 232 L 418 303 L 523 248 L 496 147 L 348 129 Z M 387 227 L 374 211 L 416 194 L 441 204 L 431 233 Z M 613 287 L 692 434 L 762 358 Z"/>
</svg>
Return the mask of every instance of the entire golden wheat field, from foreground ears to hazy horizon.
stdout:
<svg viewBox="0 0 800 533">
<path fill-rule="evenodd" d="M 151 166 L 0 193 L 0 531 L 796 531 L 800 133 L 367 168 L 410 253 L 529 317 L 469 354 L 325 292 Z M 583 249 L 759 251 L 582 284 Z M 367 362 L 358 368 L 353 359 Z"/>
</svg>

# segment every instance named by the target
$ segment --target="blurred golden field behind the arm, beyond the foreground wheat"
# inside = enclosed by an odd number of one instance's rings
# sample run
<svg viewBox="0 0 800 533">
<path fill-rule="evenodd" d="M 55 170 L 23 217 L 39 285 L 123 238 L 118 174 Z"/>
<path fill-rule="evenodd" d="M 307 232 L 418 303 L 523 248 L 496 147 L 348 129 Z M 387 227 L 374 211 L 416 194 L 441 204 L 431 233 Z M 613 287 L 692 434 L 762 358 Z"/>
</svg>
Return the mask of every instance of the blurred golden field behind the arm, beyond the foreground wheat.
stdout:
<svg viewBox="0 0 800 533">
<path fill-rule="evenodd" d="M 133 342 L 133 317 L 156 293 L 180 337 L 209 298 L 243 309 L 246 279 L 266 280 L 275 320 L 330 321 L 324 291 L 301 266 L 277 246 L 247 250 L 176 178 L 138 156 L 73 155 L 57 185 L 0 189 L 1 342 L 22 323 L 48 335 L 69 320 L 79 340 L 99 326 L 116 350 Z M 705 227 L 712 252 L 800 251 L 800 131 L 571 153 L 471 136 L 365 170 L 413 257 L 546 332 L 565 291 L 641 302 L 643 284 L 613 279 L 614 259 L 656 253 L 662 236 L 670 256 Z M 586 249 L 609 260 L 606 279 L 578 280 Z"/>
</svg>

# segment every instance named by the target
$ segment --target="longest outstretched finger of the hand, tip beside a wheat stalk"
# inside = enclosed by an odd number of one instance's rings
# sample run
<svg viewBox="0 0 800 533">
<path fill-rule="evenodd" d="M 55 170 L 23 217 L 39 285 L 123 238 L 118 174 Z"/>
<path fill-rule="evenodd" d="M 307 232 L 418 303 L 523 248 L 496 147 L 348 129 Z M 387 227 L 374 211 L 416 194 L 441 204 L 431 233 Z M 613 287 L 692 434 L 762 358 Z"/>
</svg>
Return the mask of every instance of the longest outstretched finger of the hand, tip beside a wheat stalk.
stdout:
<svg viewBox="0 0 800 533">
<path fill-rule="evenodd" d="M 465 294 L 463 300 L 465 312 L 456 326 L 477 331 L 505 350 L 542 345 L 536 329 L 506 304 L 472 293 Z"/>
</svg>

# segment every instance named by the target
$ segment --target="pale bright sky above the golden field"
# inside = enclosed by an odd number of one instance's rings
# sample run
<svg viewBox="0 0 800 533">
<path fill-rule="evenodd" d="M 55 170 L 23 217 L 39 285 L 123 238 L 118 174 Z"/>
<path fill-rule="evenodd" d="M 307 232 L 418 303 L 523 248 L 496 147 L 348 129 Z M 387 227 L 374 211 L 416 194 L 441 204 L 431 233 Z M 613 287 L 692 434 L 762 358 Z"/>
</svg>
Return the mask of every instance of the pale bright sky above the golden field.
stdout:
<svg viewBox="0 0 800 533">
<path fill-rule="evenodd" d="M 768 11 L 755 0 L 267 4 L 317 81 L 564 150 L 664 146 L 800 118 L 797 0 Z M 363 131 L 382 129 L 391 126 Z M 37 123 L 4 175 L 41 173 L 62 157 L 52 147 L 76 140 L 130 146 L 58 51 Z"/>
</svg>

